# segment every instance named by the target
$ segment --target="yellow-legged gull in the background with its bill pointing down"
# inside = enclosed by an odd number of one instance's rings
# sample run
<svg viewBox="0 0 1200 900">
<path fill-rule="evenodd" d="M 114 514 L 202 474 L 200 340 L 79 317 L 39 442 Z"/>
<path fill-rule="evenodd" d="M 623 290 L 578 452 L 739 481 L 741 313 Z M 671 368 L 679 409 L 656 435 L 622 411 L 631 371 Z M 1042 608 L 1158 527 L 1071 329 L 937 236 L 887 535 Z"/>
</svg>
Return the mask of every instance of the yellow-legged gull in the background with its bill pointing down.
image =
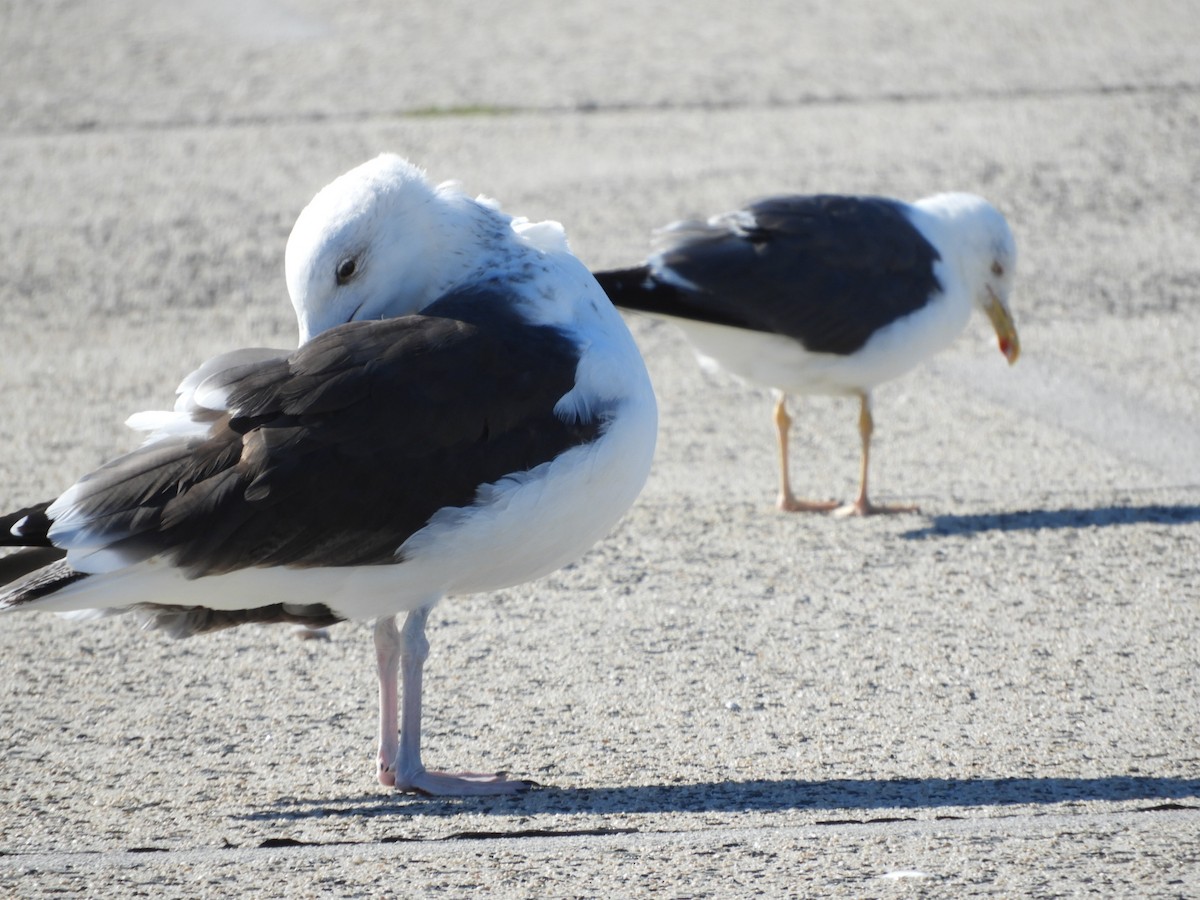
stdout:
<svg viewBox="0 0 1200 900">
<path fill-rule="evenodd" d="M 788 511 L 912 511 L 870 502 L 871 389 L 949 344 L 973 307 L 991 320 L 1009 364 L 1020 353 L 1008 296 L 1016 244 L 986 200 L 943 193 L 785 196 L 658 233 L 643 265 L 596 272 L 612 301 L 683 329 L 701 362 L 776 394 L 779 499 Z M 790 394 L 859 398 L 857 499 L 792 493 Z"/>
</svg>

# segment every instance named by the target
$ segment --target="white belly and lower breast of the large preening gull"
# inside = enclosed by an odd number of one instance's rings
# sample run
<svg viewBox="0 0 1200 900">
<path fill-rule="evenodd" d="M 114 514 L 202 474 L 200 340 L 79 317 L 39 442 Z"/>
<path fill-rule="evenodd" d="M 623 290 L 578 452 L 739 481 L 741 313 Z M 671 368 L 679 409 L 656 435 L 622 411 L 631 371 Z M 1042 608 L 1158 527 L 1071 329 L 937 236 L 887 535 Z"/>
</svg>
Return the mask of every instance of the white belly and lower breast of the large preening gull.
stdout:
<svg viewBox="0 0 1200 900">
<path fill-rule="evenodd" d="M 520 479 L 486 486 L 475 505 L 445 509 L 401 547 L 396 565 L 244 569 L 186 578 L 163 559 L 92 575 L 31 610 L 127 607 L 142 602 L 240 610 L 325 604 L 346 618 L 406 612 L 446 594 L 518 584 L 581 557 L 617 523 L 649 474 L 653 398 L 626 401 L 601 438 Z"/>
</svg>

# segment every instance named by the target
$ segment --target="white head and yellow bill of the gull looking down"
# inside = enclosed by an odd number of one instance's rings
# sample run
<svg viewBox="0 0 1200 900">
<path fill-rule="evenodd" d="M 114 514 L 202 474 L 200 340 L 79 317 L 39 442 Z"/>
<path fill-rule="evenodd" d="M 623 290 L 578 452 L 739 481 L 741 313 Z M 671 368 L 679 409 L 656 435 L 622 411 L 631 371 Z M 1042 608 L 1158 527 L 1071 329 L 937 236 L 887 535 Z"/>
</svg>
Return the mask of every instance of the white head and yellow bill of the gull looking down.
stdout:
<svg viewBox="0 0 1200 900">
<path fill-rule="evenodd" d="M 1008 306 L 1016 277 L 1016 241 L 1000 210 L 970 193 L 941 193 L 917 203 L 941 220 L 947 248 L 953 247 L 961 277 L 974 305 L 986 313 L 996 330 L 1000 352 L 1016 362 L 1021 343 Z"/>
</svg>

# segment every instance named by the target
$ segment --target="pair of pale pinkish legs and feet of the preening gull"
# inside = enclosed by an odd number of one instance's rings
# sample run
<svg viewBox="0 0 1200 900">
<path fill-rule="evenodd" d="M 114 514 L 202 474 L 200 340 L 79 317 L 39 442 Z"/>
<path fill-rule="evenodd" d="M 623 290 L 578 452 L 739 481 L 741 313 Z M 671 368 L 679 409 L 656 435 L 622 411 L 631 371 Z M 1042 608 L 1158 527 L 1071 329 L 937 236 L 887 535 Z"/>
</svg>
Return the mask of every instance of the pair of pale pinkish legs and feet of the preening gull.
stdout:
<svg viewBox="0 0 1200 900">
<path fill-rule="evenodd" d="M 430 655 L 425 623 L 433 606 L 408 613 L 397 631 L 394 617 L 376 623 L 376 656 L 379 664 L 379 781 L 397 791 L 468 797 L 517 793 L 533 781 L 508 780 L 504 773 L 428 772 L 421 763 L 421 676 Z M 396 672 L 403 684 L 400 740 L 396 739 Z"/>
</svg>

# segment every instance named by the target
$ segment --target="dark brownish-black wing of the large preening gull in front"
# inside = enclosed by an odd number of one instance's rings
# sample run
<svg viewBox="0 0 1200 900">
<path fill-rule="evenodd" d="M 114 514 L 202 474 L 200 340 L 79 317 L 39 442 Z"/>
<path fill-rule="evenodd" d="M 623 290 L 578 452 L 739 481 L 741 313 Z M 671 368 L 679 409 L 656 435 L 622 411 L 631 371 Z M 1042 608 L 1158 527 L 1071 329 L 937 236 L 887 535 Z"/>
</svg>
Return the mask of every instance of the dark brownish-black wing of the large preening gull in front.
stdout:
<svg viewBox="0 0 1200 900">
<path fill-rule="evenodd" d="M 599 421 L 553 412 L 575 344 L 510 306 L 460 294 L 210 376 L 194 394 L 223 410 L 208 436 L 163 438 L 86 476 L 62 542 L 126 563 L 167 553 L 193 577 L 396 562 L 438 509 L 599 434 Z"/>
</svg>

